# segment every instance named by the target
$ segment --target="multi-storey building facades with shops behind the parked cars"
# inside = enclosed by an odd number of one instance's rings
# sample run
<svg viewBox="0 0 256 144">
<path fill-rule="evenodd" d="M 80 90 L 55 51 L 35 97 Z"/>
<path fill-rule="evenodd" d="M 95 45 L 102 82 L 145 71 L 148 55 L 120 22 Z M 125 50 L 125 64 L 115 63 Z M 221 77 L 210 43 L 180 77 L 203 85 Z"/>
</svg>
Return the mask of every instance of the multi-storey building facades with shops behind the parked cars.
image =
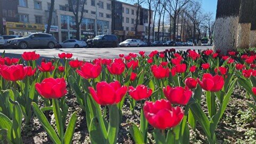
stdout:
<svg viewBox="0 0 256 144">
<path fill-rule="evenodd" d="M 6 1 L 6 2 L 5 2 Z M 11 2 L 13 1 L 13 2 Z M 15 1 L 15 2 L 14 2 Z M 3 9 L 0 12 L 0 18 L 5 16 L 5 21 L 1 18 L 1 34 L 6 35 L 27 35 L 28 33 L 46 31 L 47 21 L 49 19 L 49 10 L 51 0 L 1 0 L 2 7 L 7 5 L 8 10 L 12 10 L 12 17 L 9 12 Z M 11 2 L 12 4 L 7 4 Z M 15 3 L 13 5 L 13 3 Z M 0 3 L 1 6 L 1 3 Z M 59 42 L 70 38 L 76 38 L 76 22 L 74 13 L 68 0 L 55 0 L 54 11 L 50 33 L 58 39 Z M 146 11 L 147 9 L 143 9 Z M 79 9 L 79 11 L 81 11 Z M 82 23 L 79 26 L 79 39 L 86 40 L 95 35 L 115 34 L 119 41 L 135 37 L 135 19 L 137 6 L 111 0 L 87 0 L 84 6 Z M 81 12 L 79 12 L 81 17 Z M 143 15 L 144 14 L 144 15 Z M 140 12 L 140 17 L 145 19 L 146 12 Z M 149 21 L 149 20 L 148 20 Z M 145 38 L 145 30 L 148 21 L 140 20 L 138 34 Z M 143 34 L 143 36 L 142 36 Z"/>
</svg>

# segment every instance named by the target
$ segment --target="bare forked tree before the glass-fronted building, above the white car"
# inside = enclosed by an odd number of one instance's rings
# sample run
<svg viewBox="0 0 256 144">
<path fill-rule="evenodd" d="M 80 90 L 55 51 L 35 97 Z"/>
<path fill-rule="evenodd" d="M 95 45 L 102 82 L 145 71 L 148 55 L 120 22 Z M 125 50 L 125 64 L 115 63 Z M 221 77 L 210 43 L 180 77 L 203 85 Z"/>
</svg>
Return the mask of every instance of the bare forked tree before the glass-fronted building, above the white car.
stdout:
<svg viewBox="0 0 256 144">
<path fill-rule="evenodd" d="M 77 40 L 79 40 L 79 37 L 80 37 L 80 27 L 79 26 L 81 25 L 82 20 L 83 20 L 85 3 L 86 3 L 86 0 L 68 0 L 69 10 L 71 12 L 73 12 L 73 14 L 75 15 L 76 39 Z M 79 15 L 79 13 L 80 13 L 80 15 Z"/>
</svg>

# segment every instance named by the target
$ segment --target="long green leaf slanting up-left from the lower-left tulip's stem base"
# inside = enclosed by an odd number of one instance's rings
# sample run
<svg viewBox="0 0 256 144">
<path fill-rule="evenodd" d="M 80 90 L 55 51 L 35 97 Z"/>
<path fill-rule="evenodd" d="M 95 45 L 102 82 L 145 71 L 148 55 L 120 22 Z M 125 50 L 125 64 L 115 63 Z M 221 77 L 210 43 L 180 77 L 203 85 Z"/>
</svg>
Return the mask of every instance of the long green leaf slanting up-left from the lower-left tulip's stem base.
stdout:
<svg viewBox="0 0 256 144">
<path fill-rule="evenodd" d="M 37 104 L 35 102 L 32 102 L 32 107 L 34 109 L 34 112 L 36 114 L 36 117 L 39 119 L 39 122 L 42 124 L 42 126 L 44 127 L 44 130 L 47 132 L 47 134 L 49 135 L 49 137 L 51 138 L 51 140 L 54 143 L 60 144 L 61 141 L 59 139 L 59 136 L 57 135 L 57 133 L 54 131 L 53 127 L 51 126 L 51 124 L 47 121 L 47 118 L 45 117 L 45 115 L 43 114 L 43 112 L 39 109 L 39 107 L 37 106 Z"/>
</svg>

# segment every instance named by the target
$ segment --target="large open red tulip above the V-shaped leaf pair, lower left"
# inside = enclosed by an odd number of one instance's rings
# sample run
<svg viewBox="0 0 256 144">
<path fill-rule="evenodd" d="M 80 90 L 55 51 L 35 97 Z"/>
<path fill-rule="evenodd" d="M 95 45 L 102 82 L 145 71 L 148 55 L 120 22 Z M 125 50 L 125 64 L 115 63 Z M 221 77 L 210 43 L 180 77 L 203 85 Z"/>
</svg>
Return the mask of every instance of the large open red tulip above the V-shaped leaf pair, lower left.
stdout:
<svg viewBox="0 0 256 144">
<path fill-rule="evenodd" d="M 41 83 L 35 84 L 37 92 L 46 99 L 59 99 L 67 93 L 66 81 L 62 78 L 45 78 Z"/>
</svg>

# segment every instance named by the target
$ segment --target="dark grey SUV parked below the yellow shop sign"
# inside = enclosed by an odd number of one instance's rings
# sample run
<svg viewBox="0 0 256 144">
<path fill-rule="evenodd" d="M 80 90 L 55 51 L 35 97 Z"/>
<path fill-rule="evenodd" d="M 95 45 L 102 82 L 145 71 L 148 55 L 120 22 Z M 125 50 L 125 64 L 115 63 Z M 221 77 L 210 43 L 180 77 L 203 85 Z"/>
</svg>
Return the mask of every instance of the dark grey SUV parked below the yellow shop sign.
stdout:
<svg viewBox="0 0 256 144">
<path fill-rule="evenodd" d="M 7 41 L 7 46 L 21 49 L 27 49 L 28 47 L 48 47 L 53 49 L 57 46 L 57 43 L 57 40 L 51 34 L 31 33 L 23 37 L 10 39 Z"/>
</svg>

